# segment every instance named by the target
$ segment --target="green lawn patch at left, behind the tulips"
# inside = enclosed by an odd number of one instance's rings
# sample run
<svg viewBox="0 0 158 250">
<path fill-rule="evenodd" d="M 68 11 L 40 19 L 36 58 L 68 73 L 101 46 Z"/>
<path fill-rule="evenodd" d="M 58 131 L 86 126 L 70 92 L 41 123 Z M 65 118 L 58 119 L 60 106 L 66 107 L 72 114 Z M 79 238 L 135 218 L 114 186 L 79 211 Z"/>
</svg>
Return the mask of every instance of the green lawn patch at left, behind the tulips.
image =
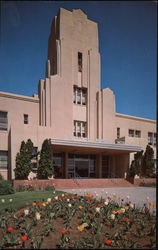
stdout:
<svg viewBox="0 0 158 250">
<path fill-rule="evenodd" d="M 59 195 L 60 191 L 24 191 L 24 192 L 16 192 L 14 194 L 9 195 L 0 195 L 0 213 L 4 211 L 6 208 L 13 208 L 15 210 L 24 208 L 26 203 L 32 204 L 34 201 L 46 200 L 47 198 L 51 198 L 52 196 Z M 2 199 L 5 202 L 2 202 Z M 12 202 L 9 200 L 12 199 Z"/>
</svg>

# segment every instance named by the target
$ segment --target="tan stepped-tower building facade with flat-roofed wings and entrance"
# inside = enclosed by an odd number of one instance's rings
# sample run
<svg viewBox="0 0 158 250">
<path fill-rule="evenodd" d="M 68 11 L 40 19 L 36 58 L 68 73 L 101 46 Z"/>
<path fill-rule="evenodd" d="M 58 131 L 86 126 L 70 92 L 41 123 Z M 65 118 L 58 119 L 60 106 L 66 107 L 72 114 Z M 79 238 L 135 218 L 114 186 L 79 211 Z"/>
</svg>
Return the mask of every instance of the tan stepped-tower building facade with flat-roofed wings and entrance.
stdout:
<svg viewBox="0 0 158 250">
<path fill-rule="evenodd" d="M 6 179 L 14 179 L 16 154 L 29 138 L 36 150 L 51 139 L 56 178 L 124 178 L 134 153 L 149 143 L 156 155 L 156 121 L 116 113 L 113 91 L 100 88 L 98 44 L 96 22 L 80 9 L 60 8 L 38 95 L 0 92 L 0 173 Z"/>
</svg>

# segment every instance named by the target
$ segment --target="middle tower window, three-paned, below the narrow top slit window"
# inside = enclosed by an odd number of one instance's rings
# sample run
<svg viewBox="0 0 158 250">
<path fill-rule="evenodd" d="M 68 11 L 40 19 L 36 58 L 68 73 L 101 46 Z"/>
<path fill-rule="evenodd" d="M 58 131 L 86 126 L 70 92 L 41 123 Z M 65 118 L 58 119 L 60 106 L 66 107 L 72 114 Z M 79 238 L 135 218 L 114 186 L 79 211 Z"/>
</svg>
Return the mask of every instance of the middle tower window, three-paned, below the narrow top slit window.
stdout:
<svg viewBox="0 0 158 250">
<path fill-rule="evenodd" d="M 78 88 L 74 86 L 73 103 L 86 105 L 87 103 L 87 89 L 86 88 Z"/>
</svg>

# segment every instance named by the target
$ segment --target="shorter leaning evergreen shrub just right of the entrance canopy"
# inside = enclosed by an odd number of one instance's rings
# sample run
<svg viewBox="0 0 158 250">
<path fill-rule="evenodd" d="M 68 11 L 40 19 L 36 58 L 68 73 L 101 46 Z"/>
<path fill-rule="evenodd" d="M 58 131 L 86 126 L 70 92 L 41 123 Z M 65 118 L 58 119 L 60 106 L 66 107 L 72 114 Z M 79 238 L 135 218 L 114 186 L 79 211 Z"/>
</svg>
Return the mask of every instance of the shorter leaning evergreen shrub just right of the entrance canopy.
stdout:
<svg viewBox="0 0 158 250">
<path fill-rule="evenodd" d="M 137 152 L 134 155 L 134 160 L 132 161 L 128 172 L 129 177 L 134 178 L 135 175 L 139 175 L 141 173 L 142 159 L 143 159 L 143 151 Z"/>
</svg>

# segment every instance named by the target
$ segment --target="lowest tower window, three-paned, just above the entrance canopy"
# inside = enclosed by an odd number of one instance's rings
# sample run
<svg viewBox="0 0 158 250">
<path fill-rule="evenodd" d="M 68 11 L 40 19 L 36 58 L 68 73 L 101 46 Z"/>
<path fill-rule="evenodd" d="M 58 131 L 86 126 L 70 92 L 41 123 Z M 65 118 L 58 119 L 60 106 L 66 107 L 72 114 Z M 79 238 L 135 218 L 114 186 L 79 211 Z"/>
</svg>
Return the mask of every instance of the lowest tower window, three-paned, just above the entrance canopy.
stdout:
<svg viewBox="0 0 158 250">
<path fill-rule="evenodd" d="M 74 121 L 74 136 L 87 137 L 87 123 L 81 121 Z"/>
</svg>

